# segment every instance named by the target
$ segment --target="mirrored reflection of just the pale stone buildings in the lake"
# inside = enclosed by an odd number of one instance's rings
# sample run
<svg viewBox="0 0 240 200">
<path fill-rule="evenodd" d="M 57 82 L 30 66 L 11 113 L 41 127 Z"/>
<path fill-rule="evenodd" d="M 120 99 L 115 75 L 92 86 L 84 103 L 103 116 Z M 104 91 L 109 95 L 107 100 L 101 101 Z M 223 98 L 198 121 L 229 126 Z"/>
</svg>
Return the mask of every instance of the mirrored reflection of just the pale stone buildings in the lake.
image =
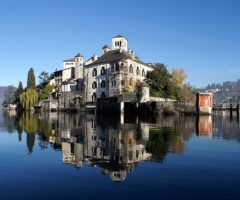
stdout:
<svg viewBox="0 0 240 200">
<path fill-rule="evenodd" d="M 82 162 L 99 166 L 103 174 L 110 173 L 113 181 L 123 181 L 133 172 L 137 162 L 151 159 L 145 143 L 149 132 L 136 129 L 134 124 L 119 127 L 96 126 L 94 116 L 87 115 L 81 132 L 62 135 L 63 163 L 82 167 Z M 140 125 L 143 127 L 143 125 Z M 140 133 L 138 133 L 140 132 Z"/>
</svg>

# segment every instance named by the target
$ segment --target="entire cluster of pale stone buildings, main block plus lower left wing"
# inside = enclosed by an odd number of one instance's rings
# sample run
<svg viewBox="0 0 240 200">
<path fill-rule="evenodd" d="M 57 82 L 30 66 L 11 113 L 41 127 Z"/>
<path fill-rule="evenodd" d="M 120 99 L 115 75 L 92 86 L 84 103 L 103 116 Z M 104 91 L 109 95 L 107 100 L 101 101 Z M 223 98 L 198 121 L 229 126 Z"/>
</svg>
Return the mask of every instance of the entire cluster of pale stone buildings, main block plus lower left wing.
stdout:
<svg viewBox="0 0 240 200">
<path fill-rule="evenodd" d="M 108 45 L 102 48 L 101 57 L 95 54 L 84 63 L 83 56 L 77 54 L 64 60 L 61 73 L 55 72 L 61 77 L 53 77 L 55 85 L 61 80 L 59 92 L 81 91 L 83 102 L 95 102 L 97 98 L 136 91 L 153 67 L 142 62 L 127 45 L 127 39 L 118 35 L 112 38 L 112 49 Z"/>
</svg>

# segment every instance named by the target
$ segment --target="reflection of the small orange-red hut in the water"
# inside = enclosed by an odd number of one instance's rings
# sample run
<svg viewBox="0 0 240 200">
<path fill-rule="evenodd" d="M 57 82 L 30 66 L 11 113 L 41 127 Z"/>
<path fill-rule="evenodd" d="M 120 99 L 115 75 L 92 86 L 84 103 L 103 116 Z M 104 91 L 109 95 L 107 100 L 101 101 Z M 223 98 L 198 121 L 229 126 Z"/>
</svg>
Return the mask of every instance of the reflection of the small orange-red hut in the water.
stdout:
<svg viewBox="0 0 240 200">
<path fill-rule="evenodd" d="M 197 124 L 197 134 L 199 136 L 213 136 L 211 115 L 199 116 Z"/>
</svg>

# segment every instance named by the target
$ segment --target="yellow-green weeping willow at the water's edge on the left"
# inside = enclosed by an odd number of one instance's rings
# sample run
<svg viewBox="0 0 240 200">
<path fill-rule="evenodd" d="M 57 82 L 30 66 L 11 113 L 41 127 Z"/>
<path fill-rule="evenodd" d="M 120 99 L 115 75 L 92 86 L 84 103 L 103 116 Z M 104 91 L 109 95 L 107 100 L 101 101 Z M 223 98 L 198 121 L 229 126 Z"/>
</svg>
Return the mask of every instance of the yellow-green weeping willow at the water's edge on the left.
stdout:
<svg viewBox="0 0 240 200">
<path fill-rule="evenodd" d="M 38 92 L 34 89 L 27 89 L 20 95 L 20 103 L 24 110 L 31 110 L 35 103 L 38 102 Z"/>
</svg>

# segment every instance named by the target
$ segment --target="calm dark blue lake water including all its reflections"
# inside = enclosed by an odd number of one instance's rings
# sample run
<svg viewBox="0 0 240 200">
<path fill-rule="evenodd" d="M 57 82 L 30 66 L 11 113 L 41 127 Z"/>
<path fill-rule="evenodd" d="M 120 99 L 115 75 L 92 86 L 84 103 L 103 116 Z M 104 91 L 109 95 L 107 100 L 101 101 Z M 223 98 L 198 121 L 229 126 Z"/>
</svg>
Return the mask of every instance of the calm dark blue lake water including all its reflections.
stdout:
<svg viewBox="0 0 240 200">
<path fill-rule="evenodd" d="M 0 199 L 240 199 L 236 116 L 0 113 Z"/>
</svg>

